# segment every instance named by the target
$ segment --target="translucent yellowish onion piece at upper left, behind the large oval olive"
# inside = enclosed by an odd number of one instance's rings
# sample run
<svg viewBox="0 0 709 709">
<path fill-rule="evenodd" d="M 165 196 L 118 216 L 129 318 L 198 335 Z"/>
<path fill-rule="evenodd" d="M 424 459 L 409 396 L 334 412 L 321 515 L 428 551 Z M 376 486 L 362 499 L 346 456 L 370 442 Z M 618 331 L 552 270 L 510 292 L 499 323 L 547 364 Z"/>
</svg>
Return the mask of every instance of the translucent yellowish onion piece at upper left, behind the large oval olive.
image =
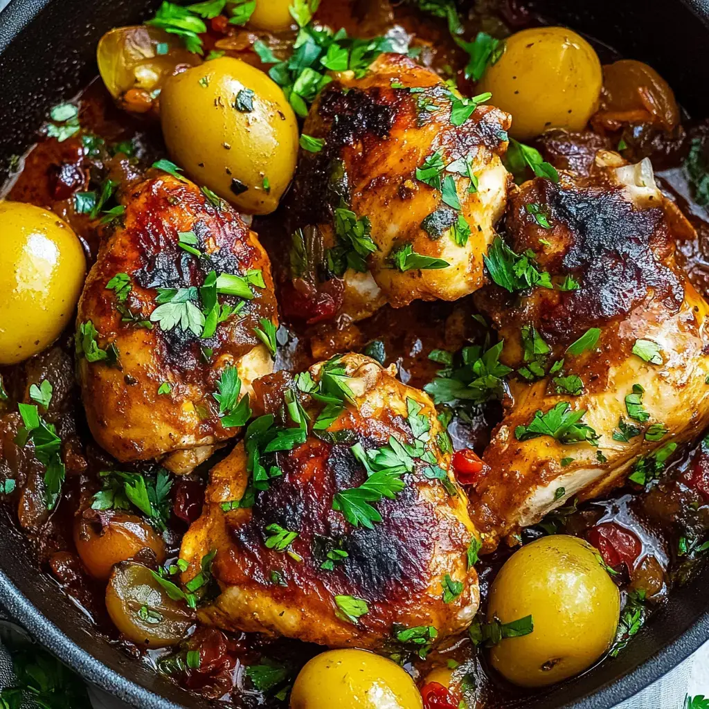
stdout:
<svg viewBox="0 0 709 709">
<path fill-rule="evenodd" d="M 175 35 L 144 25 L 107 32 L 99 41 L 96 60 L 111 96 L 126 110 L 137 113 L 150 111 L 162 82 L 179 65 L 201 63 L 200 57 L 182 47 Z"/>
</svg>

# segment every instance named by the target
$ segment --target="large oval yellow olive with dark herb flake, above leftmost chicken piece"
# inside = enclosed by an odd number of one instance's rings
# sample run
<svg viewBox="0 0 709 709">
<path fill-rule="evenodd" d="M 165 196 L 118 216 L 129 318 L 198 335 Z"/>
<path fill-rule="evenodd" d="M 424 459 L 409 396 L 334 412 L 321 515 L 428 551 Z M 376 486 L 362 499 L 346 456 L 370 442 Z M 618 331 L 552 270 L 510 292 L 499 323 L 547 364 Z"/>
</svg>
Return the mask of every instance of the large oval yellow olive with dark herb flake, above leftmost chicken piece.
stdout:
<svg viewBox="0 0 709 709">
<path fill-rule="evenodd" d="M 170 156 L 238 209 L 268 214 L 293 177 L 298 124 L 267 74 L 220 57 L 169 77 L 160 94 Z"/>
</svg>

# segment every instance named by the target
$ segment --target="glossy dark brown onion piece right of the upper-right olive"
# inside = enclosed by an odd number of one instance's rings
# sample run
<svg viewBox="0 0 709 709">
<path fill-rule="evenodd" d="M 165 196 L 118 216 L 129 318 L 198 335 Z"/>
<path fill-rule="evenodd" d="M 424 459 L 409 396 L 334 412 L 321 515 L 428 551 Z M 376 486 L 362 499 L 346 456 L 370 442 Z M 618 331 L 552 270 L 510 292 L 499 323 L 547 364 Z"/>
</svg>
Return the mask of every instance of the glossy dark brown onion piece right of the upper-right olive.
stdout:
<svg viewBox="0 0 709 709">
<path fill-rule="evenodd" d="M 601 110 L 591 123 L 605 130 L 640 123 L 672 130 L 679 123 L 679 107 L 669 84 L 652 67 L 623 59 L 603 67 Z"/>
</svg>

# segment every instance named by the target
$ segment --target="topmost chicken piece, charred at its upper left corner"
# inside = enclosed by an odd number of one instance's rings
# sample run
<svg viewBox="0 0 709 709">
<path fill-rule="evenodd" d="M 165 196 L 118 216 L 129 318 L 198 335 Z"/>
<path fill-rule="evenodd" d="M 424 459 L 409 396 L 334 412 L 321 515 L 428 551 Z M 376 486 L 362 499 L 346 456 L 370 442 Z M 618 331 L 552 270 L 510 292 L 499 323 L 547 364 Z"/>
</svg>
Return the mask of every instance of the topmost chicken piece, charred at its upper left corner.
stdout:
<svg viewBox="0 0 709 709">
<path fill-rule="evenodd" d="M 336 74 L 311 108 L 303 133 L 325 145 L 301 151 L 296 225 L 317 225 L 330 249 L 320 271 L 344 273 L 342 312 L 353 319 L 386 302 L 398 308 L 418 298 L 457 300 L 483 284 L 483 255 L 506 202 L 509 176 L 500 156 L 510 116 L 479 106 L 463 120 L 455 99 L 430 69 L 382 55 L 365 77 Z M 461 125 L 452 122 L 452 109 Z M 422 179 L 417 168 L 427 171 Z M 342 209 L 353 213 L 350 223 Z M 369 249 L 361 238 L 355 243 L 363 220 L 371 225 Z M 449 265 L 407 264 L 402 272 L 393 253 L 407 246 Z M 302 264 L 295 270 L 307 279 Z"/>
</svg>

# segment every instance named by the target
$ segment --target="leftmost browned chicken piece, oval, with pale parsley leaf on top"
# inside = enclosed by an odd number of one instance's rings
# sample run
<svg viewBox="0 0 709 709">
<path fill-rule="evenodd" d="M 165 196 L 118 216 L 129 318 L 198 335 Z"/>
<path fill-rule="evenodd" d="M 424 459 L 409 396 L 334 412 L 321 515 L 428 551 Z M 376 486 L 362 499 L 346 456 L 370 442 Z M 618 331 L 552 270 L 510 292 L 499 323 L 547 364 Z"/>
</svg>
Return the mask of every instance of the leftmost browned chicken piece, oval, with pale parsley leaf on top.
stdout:
<svg viewBox="0 0 709 709">
<path fill-rule="evenodd" d="M 255 333 L 259 318 L 276 322 L 269 259 L 230 206 L 216 206 L 191 182 L 160 173 L 130 186 L 121 199 L 125 213 L 104 235 L 79 301 L 77 355 L 86 418 L 96 441 L 119 461 L 164 457 L 172 471 L 187 472 L 238 431 L 222 425 L 214 398 L 224 369 L 237 368 L 242 396 L 254 379 L 272 372 L 267 347 Z M 179 246 L 181 233 L 201 255 Z M 227 314 L 224 305 L 237 311 L 213 335 L 200 337 L 208 334 L 203 327 L 209 318 L 201 316 L 208 295 L 199 291 L 208 274 L 245 276 L 254 269 L 265 287 L 252 274 L 251 299 L 218 296 L 220 316 Z M 188 288 L 179 293 L 189 303 L 167 305 L 167 312 L 158 305 L 160 294 L 160 303 L 170 295 L 160 289 Z M 172 323 L 157 318 L 157 308 L 169 316 L 171 307 Z M 98 333 L 98 351 L 88 323 Z"/>
</svg>

